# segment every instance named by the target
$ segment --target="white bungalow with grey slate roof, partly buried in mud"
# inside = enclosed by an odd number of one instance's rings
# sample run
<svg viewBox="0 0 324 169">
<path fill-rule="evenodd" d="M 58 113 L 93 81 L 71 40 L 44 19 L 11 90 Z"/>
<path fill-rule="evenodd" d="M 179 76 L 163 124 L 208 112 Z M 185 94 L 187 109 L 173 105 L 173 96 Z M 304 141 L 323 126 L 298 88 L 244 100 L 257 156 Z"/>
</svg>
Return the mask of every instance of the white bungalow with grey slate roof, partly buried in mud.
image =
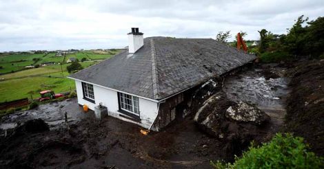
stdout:
<svg viewBox="0 0 324 169">
<path fill-rule="evenodd" d="M 132 28 L 128 50 L 68 78 L 80 105 L 159 131 L 182 115 L 185 91 L 255 58 L 212 38 L 143 38 Z"/>
</svg>

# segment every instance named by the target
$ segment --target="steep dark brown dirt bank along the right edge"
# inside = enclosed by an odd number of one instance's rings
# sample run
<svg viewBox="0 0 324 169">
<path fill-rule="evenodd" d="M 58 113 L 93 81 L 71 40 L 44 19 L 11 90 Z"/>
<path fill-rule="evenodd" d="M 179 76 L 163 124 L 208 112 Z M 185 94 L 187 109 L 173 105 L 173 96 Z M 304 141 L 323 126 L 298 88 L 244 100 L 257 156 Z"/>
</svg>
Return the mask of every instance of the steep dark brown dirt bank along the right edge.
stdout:
<svg viewBox="0 0 324 169">
<path fill-rule="evenodd" d="M 324 60 L 303 62 L 290 74 L 285 131 L 304 137 L 314 153 L 324 155 Z"/>
</svg>

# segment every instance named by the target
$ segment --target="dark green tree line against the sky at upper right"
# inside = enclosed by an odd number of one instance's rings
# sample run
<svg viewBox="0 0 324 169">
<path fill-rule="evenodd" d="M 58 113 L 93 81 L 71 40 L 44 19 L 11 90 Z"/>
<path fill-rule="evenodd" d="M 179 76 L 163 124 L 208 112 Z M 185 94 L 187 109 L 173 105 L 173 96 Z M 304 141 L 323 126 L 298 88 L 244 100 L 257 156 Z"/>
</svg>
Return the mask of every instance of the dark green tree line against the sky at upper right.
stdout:
<svg viewBox="0 0 324 169">
<path fill-rule="evenodd" d="M 287 29 L 287 34 L 273 34 L 271 31 L 259 30 L 259 45 L 249 47 L 248 52 L 260 56 L 265 62 L 278 62 L 292 58 L 324 58 L 324 17 L 313 21 L 303 15 L 296 23 Z M 246 32 L 240 32 L 247 35 Z M 230 31 L 219 32 L 216 41 L 227 43 L 231 37 Z M 236 46 L 236 41 L 230 43 Z"/>
</svg>

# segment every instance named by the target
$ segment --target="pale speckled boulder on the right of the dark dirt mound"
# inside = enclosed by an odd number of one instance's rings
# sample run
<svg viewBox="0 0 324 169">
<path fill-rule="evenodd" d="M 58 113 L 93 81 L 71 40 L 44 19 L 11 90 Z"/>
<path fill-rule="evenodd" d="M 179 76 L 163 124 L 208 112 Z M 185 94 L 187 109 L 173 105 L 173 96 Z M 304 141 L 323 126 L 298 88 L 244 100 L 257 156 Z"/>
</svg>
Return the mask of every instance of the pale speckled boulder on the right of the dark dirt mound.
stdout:
<svg viewBox="0 0 324 169">
<path fill-rule="evenodd" d="M 257 125 L 262 124 L 270 118 L 256 106 L 242 101 L 240 101 L 239 104 L 230 106 L 226 110 L 225 115 L 227 118 L 236 120 L 238 122 L 252 122 L 253 124 Z"/>
</svg>

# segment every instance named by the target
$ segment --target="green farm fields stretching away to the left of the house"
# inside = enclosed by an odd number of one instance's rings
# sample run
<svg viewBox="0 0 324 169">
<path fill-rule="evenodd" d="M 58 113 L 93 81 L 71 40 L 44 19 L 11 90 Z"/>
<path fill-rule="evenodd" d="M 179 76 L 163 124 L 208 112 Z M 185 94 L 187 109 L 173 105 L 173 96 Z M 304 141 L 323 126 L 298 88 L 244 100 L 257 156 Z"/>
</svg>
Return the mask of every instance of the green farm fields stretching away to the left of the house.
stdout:
<svg viewBox="0 0 324 169">
<path fill-rule="evenodd" d="M 20 98 L 38 98 L 39 91 L 51 89 L 62 93 L 75 89 L 74 80 L 66 78 L 69 75 L 66 67 L 68 58 L 77 58 L 83 68 L 99 63 L 101 60 L 117 54 L 114 52 L 85 51 L 55 56 L 56 53 L 43 54 L 2 54 L 0 55 L 0 102 Z M 36 59 L 35 59 L 36 58 Z M 37 59 L 38 58 L 38 59 Z M 26 69 L 30 65 L 42 65 L 54 62 L 54 65 Z M 62 74 L 63 73 L 63 74 Z"/>
</svg>

